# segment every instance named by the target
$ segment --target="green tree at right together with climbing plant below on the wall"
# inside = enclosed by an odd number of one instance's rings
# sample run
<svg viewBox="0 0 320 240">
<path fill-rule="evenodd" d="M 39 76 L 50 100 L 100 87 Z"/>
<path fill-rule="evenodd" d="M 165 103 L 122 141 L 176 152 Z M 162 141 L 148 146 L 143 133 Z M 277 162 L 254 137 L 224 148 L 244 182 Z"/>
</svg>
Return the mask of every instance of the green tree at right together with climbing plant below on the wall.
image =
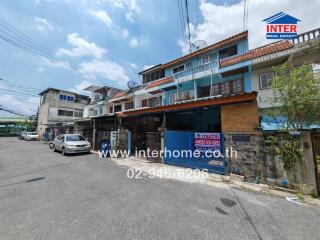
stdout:
<svg viewBox="0 0 320 240">
<path fill-rule="evenodd" d="M 290 132 L 320 125 L 320 78 L 310 64 L 290 68 L 286 62 L 274 67 L 271 115 L 287 119 L 281 134 L 269 137 L 271 147 L 283 161 L 288 177 L 295 182 L 298 163 L 302 163 L 300 139 Z"/>
</svg>

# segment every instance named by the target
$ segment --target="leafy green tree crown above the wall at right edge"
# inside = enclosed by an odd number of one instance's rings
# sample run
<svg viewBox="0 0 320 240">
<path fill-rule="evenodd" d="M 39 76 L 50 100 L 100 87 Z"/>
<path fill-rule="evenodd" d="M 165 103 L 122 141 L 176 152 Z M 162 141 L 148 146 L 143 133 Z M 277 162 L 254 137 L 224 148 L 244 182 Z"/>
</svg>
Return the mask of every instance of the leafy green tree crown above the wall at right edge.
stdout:
<svg viewBox="0 0 320 240">
<path fill-rule="evenodd" d="M 273 68 L 273 114 L 287 119 L 288 130 L 320 125 L 320 78 L 313 74 L 310 64 L 289 65 L 286 62 Z"/>
</svg>

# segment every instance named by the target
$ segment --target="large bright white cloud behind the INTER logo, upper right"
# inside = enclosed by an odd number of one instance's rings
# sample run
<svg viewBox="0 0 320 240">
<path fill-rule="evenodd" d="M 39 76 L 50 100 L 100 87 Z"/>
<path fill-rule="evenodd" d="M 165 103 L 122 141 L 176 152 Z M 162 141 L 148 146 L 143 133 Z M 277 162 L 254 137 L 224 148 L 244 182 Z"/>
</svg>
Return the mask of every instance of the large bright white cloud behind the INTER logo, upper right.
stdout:
<svg viewBox="0 0 320 240">
<path fill-rule="evenodd" d="M 200 11 L 204 21 L 191 29 L 192 37 L 205 40 L 208 44 L 220 41 L 243 31 L 243 1 L 236 4 L 216 5 L 202 0 Z M 248 31 L 249 46 L 255 48 L 268 44 L 265 38 L 263 19 L 278 12 L 286 12 L 298 19 L 298 33 L 319 27 L 315 21 L 319 15 L 320 1 L 310 0 L 308 4 L 299 0 L 255 0 L 249 1 Z M 263 10 L 262 10 L 263 9 Z M 191 26 L 191 25 L 190 25 Z M 177 43 L 185 53 L 185 45 Z"/>
</svg>

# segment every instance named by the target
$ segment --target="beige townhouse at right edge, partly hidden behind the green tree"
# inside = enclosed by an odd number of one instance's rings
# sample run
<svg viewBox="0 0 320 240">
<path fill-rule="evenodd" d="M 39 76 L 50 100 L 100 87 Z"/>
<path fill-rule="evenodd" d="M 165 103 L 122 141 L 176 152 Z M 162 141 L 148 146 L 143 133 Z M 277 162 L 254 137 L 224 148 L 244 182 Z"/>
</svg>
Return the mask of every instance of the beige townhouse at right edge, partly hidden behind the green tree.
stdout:
<svg viewBox="0 0 320 240">
<path fill-rule="evenodd" d="M 221 63 L 229 66 L 242 61 L 251 61 L 252 87 L 257 94 L 257 106 L 260 116 L 260 128 L 265 137 L 277 134 L 286 126 L 283 116 L 269 116 L 268 110 L 274 105 L 272 97 L 275 93 L 272 83 L 275 81 L 277 72 L 274 68 L 288 62 L 288 69 L 280 74 L 286 74 L 290 81 L 291 71 L 304 64 L 310 65 L 310 71 L 314 77 L 319 77 L 320 64 L 320 29 L 301 33 L 293 41 L 279 41 L 250 50 L 241 56 L 229 58 Z M 303 146 L 303 166 L 298 173 L 298 181 L 305 186 L 305 191 L 314 193 L 315 189 L 320 192 L 320 165 L 316 156 L 320 155 L 319 126 L 306 128 L 301 132 Z M 285 177 L 281 167 L 281 160 L 275 158 L 272 152 L 266 154 L 266 176 L 271 179 Z"/>
</svg>

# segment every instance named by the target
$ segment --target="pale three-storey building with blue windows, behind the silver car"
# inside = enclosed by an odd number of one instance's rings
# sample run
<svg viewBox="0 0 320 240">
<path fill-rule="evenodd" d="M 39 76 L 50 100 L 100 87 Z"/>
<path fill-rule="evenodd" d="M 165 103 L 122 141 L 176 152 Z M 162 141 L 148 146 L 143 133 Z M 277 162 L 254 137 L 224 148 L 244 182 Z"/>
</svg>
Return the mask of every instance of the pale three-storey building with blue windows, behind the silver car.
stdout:
<svg viewBox="0 0 320 240">
<path fill-rule="evenodd" d="M 55 88 L 47 88 L 39 95 L 37 131 L 39 134 L 49 132 L 53 137 L 72 133 L 74 120 L 83 117 L 83 110 L 90 103 L 88 96 Z"/>
</svg>

